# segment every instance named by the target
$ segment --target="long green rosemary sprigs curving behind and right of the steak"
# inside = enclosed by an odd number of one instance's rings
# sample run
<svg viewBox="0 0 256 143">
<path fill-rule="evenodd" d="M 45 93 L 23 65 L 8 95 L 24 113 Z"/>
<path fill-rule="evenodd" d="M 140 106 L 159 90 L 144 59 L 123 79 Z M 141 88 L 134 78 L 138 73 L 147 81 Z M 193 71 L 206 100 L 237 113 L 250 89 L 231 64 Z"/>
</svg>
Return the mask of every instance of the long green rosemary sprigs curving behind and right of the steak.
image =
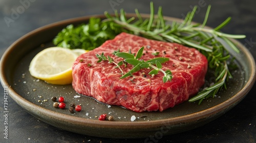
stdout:
<svg viewBox="0 0 256 143">
<path fill-rule="evenodd" d="M 230 61 L 232 56 L 227 49 L 231 47 L 233 51 L 239 53 L 239 49 L 237 49 L 236 45 L 229 38 L 245 38 L 245 35 L 232 35 L 220 32 L 228 24 L 231 19 L 230 17 L 214 29 L 205 28 L 209 17 L 210 6 L 207 8 L 202 24 L 192 22 L 197 7 L 194 7 L 191 12 L 188 12 L 181 23 L 176 21 L 167 23 L 163 18 L 161 7 L 158 9 L 157 15 L 154 15 L 153 2 L 150 3 L 150 8 L 150 18 L 142 19 L 138 10 L 135 10 L 138 18 L 132 17 L 128 19 L 125 17 L 125 12 L 121 9 L 120 15 L 116 11 L 115 16 L 111 16 L 108 12 L 105 12 L 106 19 L 103 21 L 114 22 L 123 31 L 128 31 L 132 34 L 155 40 L 177 42 L 198 49 L 207 57 L 208 67 L 215 70 L 216 83 L 199 92 L 189 102 L 200 100 L 200 104 L 205 98 L 214 98 L 217 91 L 222 89 L 222 87 L 226 87 L 225 82 L 231 77 L 227 61 Z M 135 67 L 140 69 L 137 66 Z M 154 68 L 153 66 L 151 67 Z M 154 73 L 154 71 L 152 72 Z"/>
</svg>

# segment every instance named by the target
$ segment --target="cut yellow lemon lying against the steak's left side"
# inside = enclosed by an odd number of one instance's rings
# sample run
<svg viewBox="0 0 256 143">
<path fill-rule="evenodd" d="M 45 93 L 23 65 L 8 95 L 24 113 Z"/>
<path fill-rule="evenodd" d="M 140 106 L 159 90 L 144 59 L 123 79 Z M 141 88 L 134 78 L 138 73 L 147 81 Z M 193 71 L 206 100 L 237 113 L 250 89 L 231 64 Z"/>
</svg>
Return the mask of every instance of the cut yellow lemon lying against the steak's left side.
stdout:
<svg viewBox="0 0 256 143">
<path fill-rule="evenodd" d="M 32 59 L 29 72 L 31 76 L 50 84 L 71 84 L 72 65 L 82 53 L 86 53 L 86 51 L 49 47 Z"/>
</svg>

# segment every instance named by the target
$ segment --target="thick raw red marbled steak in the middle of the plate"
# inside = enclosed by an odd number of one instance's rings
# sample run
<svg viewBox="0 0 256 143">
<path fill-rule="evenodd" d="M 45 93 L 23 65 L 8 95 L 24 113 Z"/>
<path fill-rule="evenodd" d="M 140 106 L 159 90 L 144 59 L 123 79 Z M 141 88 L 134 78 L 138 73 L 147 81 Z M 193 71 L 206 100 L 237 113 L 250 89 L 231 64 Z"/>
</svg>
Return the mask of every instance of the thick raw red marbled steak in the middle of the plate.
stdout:
<svg viewBox="0 0 256 143">
<path fill-rule="evenodd" d="M 121 71 L 108 61 L 97 63 L 96 54 L 111 56 L 119 62 L 122 58 L 112 53 L 136 53 L 144 46 L 144 61 L 155 57 L 167 57 L 169 61 L 163 63 L 163 70 L 170 69 L 173 73 L 172 81 L 163 83 L 163 74 L 148 75 L 150 69 L 143 69 L 133 74 L 133 77 L 119 79 Z M 154 56 L 152 53 L 160 52 Z M 188 100 L 197 93 L 204 84 L 207 71 L 207 59 L 193 48 L 177 44 L 150 40 L 132 34 L 121 33 L 113 40 L 108 40 L 95 50 L 82 54 L 73 64 L 73 88 L 76 92 L 90 96 L 99 102 L 109 105 L 121 105 L 127 109 L 143 111 L 163 111 L 167 108 Z M 133 68 L 128 64 L 121 66 L 124 73 Z M 145 75 L 144 75 L 145 73 Z"/>
</svg>

